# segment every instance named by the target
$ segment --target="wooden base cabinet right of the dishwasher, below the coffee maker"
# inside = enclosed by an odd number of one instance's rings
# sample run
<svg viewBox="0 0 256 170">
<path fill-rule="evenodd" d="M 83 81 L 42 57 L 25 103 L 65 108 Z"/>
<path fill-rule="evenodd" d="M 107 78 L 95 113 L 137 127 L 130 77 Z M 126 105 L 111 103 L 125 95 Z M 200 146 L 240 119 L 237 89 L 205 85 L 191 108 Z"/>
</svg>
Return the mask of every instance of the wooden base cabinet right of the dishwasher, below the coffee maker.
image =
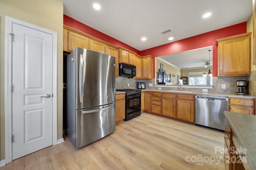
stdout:
<svg viewBox="0 0 256 170">
<path fill-rule="evenodd" d="M 228 98 L 228 110 L 237 113 L 254 115 L 254 99 Z"/>
</svg>

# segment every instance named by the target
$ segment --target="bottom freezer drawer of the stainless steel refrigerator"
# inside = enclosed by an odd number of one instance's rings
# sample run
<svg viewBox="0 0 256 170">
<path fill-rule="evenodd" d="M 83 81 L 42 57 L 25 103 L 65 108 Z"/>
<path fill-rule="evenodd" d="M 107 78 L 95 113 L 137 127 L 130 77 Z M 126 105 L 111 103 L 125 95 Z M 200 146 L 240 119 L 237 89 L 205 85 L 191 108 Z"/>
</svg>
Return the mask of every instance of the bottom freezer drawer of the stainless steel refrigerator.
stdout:
<svg viewBox="0 0 256 170">
<path fill-rule="evenodd" d="M 116 130 L 116 104 L 76 111 L 76 145 L 80 148 Z"/>
</svg>

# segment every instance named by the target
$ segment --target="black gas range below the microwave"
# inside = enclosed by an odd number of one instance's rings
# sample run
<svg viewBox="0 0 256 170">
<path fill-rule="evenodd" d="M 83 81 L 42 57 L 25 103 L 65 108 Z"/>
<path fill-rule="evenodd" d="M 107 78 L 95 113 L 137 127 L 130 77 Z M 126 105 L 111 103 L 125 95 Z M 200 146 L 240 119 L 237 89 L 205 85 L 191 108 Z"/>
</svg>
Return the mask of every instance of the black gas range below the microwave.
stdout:
<svg viewBox="0 0 256 170">
<path fill-rule="evenodd" d="M 125 121 L 128 121 L 141 114 L 141 90 L 120 89 L 116 91 L 126 92 L 125 97 Z"/>
</svg>

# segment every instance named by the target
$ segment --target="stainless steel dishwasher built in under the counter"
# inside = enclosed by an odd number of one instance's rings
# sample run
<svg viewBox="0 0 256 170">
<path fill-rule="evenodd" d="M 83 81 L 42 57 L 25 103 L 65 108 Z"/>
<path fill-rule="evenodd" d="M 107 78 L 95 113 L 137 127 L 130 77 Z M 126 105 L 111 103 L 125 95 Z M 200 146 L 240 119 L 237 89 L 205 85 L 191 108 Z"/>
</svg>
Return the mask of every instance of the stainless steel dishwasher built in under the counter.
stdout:
<svg viewBox="0 0 256 170">
<path fill-rule="evenodd" d="M 228 111 L 227 97 L 210 97 L 196 95 L 196 125 L 224 131 L 224 111 Z"/>
</svg>

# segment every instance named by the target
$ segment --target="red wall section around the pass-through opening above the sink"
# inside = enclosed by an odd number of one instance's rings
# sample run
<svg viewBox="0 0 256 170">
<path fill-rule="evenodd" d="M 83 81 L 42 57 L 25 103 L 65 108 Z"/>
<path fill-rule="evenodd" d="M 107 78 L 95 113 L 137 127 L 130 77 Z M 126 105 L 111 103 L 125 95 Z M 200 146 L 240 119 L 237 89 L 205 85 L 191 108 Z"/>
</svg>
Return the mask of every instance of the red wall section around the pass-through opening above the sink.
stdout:
<svg viewBox="0 0 256 170">
<path fill-rule="evenodd" d="M 210 31 L 208 33 L 203 33 L 200 35 L 196 35 L 194 37 L 189 37 L 186 39 L 182 39 L 180 41 L 175 41 L 173 43 L 168 43 L 165 45 L 161 45 L 158 47 L 154 47 L 151 49 L 146 49 L 144 51 L 140 51 L 140 55 L 152 55 L 153 57 L 158 57 L 162 55 L 168 55 L 173 53 L 178 53 L 181 51 L 187 51 L 191 49 L 198 49 L 202 47 L 208 47 L 212 45 L 212 72 L 213 76 L 217 76 L 218 70 L 218 47 L 216 46 L 216 39 L 229 37 L 232 35 L 238 35 L 241 33 L 246 33 L 246 22 L 238 23 L 236 25 L 232 25 L 229 27 L 225 27 L 222 29 L 217 29 L 214 31 Z M 153 60 L 153 65 L 154 65 Z M 155 67 L 153 67 L 153 73 L 155 72 Z M 153 74 L 153 77 L 155 74 Z"/>
</svg>

